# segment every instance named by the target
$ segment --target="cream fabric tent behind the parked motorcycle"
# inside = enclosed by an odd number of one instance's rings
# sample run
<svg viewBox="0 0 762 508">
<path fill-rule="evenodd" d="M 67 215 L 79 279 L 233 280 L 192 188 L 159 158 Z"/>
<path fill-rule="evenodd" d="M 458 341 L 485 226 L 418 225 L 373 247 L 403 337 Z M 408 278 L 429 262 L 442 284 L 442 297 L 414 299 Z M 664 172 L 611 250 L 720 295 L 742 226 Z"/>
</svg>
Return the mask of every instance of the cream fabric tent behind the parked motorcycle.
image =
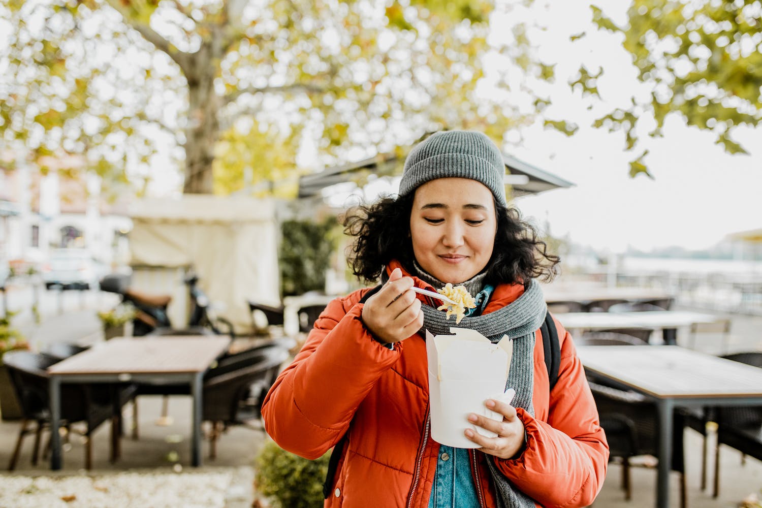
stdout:
<svg viewBox="0 0 762 508">
<path fill-rule="evenodd" d="M 131 206 L 130 217 L 133 283 L 146 291 L 163 285 L 173 300 L 182 301 L 170 308 L 173 327 L 187 323 L 181 275 L 191 267 L 236 331 L 251 326 L 248 298 L 280 301 L 273 201 L 186 194 L 180 200 L 141 200 Z"/>
</svg>

